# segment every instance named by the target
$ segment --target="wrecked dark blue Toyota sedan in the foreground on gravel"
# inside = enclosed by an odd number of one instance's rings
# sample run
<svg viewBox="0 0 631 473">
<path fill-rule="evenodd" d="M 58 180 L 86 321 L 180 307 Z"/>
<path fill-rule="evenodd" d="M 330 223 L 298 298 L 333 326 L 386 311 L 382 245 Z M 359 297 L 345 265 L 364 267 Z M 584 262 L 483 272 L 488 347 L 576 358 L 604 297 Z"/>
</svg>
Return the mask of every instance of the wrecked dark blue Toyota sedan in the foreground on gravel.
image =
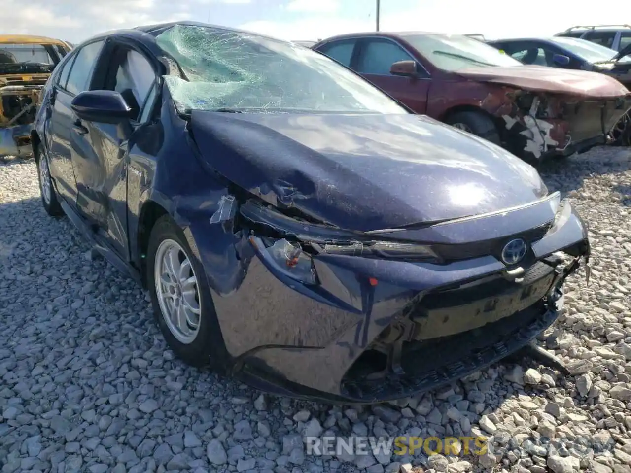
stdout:
<svg viewBox="0 0 631 473">
<path fill-rule="evenodd" d="M 529 346 L 589 256 L 532 166 L 291 42 L 103 33 L 44 97 L 46 211 L 150 291 L 180 359 L 274 394 L 372 403 L 461 378 Z"/>
</svg>

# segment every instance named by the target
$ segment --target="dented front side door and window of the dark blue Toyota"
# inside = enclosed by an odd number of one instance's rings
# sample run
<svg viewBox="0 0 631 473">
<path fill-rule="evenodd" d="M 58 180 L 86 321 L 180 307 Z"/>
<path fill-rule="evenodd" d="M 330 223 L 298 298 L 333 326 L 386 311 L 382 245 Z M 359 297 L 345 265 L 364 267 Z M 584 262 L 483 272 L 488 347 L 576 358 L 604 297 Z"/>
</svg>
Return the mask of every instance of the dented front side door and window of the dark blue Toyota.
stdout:
<svg viewBox="0 0 631 473">
<path fill-rule="evenodd" d="M 124 259 L 127 245 L 127 178 L 129 146 L 148 121 L 156 93 L 157 72 L 149 57 L 132 44 L 115 42 L 99 64 L 99 79 L 91 90 L 119 92 L 133 110 L 131 122 L 121 125 L 84 122 L 90 136 L 90 158 L 77 173 L 77 182 L 89 190 L 79 204 L 97 223 L 112 249 Z M 146 105 L 150 104 L 150 105 Z"/>
</svg>

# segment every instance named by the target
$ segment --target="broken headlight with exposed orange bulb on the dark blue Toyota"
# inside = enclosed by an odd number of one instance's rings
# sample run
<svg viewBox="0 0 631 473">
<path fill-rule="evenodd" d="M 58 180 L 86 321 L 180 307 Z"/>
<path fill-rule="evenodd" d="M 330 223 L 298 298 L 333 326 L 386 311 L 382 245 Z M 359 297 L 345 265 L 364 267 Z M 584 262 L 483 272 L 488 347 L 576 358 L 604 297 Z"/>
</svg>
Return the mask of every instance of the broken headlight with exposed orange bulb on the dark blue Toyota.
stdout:
<svg viewBox="0 0 631 473">
<path fill-rule="evenodd" d="M 276 271 L 304 284 L 317 284 L 313 261 L 302 250 L 300 243 L 281 238 L 250 237 L 250 242 L 261 251 L 261 257 Z"/>
</svg>

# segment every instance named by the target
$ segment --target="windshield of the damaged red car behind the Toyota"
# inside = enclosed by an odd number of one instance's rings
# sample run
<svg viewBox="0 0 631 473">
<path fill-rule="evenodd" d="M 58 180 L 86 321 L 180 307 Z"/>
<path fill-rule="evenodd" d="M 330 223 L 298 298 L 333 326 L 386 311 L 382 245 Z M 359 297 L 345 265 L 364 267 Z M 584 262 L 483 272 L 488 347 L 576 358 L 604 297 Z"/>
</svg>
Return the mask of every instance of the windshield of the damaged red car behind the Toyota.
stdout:
<svg viewBox="0 0 631 473">
<path fill-rule="evenodd" d="M 473 66 L 523 66 L 517 59 L 464 35 L 403 35 L 403 39 L 444 71 Z"/>
</svg>

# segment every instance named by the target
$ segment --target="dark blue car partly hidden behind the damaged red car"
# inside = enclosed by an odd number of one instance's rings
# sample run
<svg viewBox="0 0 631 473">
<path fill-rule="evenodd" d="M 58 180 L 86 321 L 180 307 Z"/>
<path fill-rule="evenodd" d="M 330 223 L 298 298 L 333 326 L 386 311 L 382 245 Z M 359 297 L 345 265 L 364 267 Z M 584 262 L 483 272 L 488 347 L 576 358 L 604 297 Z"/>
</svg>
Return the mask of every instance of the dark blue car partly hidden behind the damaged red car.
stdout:
<svg viewBox="0 0 631 473">
<path fill-rule="evenodd" d="M 631 45 L 621 52 L 579 38 L 510 38 L 488 41 L 524 64 L 583 69 L 607 74 L 631 88 Z M 616 144 L 631 146 L 631 119 L 629 114 L 611 130 Z"/>
</svg>

